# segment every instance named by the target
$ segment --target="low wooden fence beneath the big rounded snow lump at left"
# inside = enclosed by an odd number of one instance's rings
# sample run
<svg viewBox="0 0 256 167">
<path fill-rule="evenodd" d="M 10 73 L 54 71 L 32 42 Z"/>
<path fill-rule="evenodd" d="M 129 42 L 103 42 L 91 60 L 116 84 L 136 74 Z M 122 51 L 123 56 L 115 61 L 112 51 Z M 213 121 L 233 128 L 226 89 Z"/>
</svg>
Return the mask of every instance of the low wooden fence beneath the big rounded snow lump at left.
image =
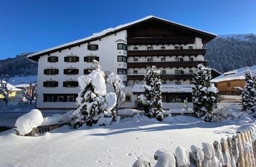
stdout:
<svg viewBox="0 0 256 167">
<path fill-rule="evenodd" d="M 18 136 L 36 136 L 36 134 L 44 134 L 46 132 L 52 131 L 54 129 L 60 128 L 64 125 L 67 125 L 67 123 L 64 124 L 54 124 L 54 125 L 45 125 L 45 126 L 38 126 L 36 128 L 33 128 L 31 132 L 28 134 L 22 135 L 16 130 L 16 135 Z"/>
</svg>

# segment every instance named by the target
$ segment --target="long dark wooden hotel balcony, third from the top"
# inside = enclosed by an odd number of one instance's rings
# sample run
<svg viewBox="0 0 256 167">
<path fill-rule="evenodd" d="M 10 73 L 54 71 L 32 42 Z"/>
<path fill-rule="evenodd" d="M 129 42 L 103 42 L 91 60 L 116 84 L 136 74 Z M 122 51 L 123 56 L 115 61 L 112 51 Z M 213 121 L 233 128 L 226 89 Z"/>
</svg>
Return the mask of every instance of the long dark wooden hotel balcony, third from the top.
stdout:
<svg viewBox="0 0 256 167">
<path fill-rule="evenodd" d="M 141 68 L 146 66 L 157 67 L 196 67 L 198 64 L 203 63 L 207 65 L 207 61 L 158 61 L 158 62 L 127 62 L 127 68 Z"/>
</svg>

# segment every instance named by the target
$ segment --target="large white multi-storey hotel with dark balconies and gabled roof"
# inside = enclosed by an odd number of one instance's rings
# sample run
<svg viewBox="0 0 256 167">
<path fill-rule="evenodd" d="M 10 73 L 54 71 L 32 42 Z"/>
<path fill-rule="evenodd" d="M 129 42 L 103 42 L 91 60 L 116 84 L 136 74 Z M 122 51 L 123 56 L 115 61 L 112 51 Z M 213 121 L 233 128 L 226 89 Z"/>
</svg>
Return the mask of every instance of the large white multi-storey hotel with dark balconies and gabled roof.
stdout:
<svg viewBox="0 0 256 167">
<path fill-rule="evenodd" d="M 215 34 L 147 16 L 31 54 L 28 58 L 38 62 L 37 108 L 76 108 L 75 99 L 80 91 L 77 78 L 90 73 L 92 60 L 99 61 L 106 76 L 114 72 L 123 79 L 126 103 L 122 107 L 136 107 L 137 96 L 142 92 L 133 88 L 143 84 L 147 65 L 157 66 L 162 84 L 169 89 L 163 91 L 163 108 L 174 104 L 181 107 L 183 99 L 191 102 L 193 69 L 199 63 L 207 65 L 203 46 L 215 37 Z M 179 85 L 190 88 L 177 89 L 177 96 L 173 96 L 173 87 Z M 112 90 L 110 85 L 107 90 Z"/>
</svg>

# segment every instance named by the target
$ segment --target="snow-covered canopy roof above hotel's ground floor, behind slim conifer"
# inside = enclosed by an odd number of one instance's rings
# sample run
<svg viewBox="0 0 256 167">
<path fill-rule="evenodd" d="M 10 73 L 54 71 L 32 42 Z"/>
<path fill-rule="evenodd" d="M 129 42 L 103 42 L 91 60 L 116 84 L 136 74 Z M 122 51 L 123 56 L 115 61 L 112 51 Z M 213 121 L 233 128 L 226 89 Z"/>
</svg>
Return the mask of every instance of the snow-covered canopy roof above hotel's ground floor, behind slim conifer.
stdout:
<svg viewBox="0 0 256 167">
<path fill-rule="evenodd" d="M 144 92 L 144 85 L 134 85 L 132 92 Z M 164 84 L 162 85 L 161 92 L 192 92 L 192 87 L 191 85 Z"/>
</svg>

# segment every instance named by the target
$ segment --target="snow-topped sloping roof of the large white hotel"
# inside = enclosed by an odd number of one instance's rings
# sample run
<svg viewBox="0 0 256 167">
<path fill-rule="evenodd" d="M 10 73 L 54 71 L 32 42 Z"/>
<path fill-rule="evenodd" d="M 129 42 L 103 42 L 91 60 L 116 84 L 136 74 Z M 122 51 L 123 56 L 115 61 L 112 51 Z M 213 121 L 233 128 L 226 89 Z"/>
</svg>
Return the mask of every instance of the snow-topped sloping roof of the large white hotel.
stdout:
<svg viewBox="0 0 256 167">
<path fill-rule="evenodd" d="M 50 52 L 50 51 L 53 51 L 53 52 L 57 52 L 57 50 L 59 49 L 67 49 L 67 47 L 72 47 L 74 45 L 77 45 L 78 43 L 86 43 L 88 41 L 93 41 L 93 40 L 97 40 L 99 39 L 100 37 L 103 37 L 103 36 L 106 36 L 106 35 L 111 35 L 115 32 L 118 32 L 118 31 L 122 31 L 122 30 L 125 30 L 125 28 L 129 27 L 129 26 L 132 26 L 134 25 L 135 23 L 138 23 L 138 22 L 141 22 L 141 21 L 145 21 L 145 20 L 148 20 L 148 19 L 158 19 L 158 20 L 162 20 L 162 21 L 167 21 L 169 23 L 172 23 L 173 25 L 176 25 L 176 26 L 180 26 L 180 27 L 183 27 L 183 28 L 186 28 L 186 29 L 189 29 L 191 31 L 196 31 L 198 33 L 203 33 L 205 35 L 209 35 L 211 36 L 212 38 L 215 38 L 217 37 L 216 34 L 212 34 L 212 33 L 209 33 L 209 32 L 206 32 L 206 31 L 202 31 L 202 30 L 199 30 L 199 29 L 195 29 L 195 28 L 192 28 L 192 27 L 188 27 L 188 26 L 185 26 L 185 25 L 181 25 L 180 23 L 177 23 L 177 22 L 173 22 L 173 21 L 169 21 L 169 20 L 166 20 L 166 19 L 163 19 L 163 18 L 159 18 L 159 17 L 156 17 L 156 16 L 153 16 L 153 15 L 150 15 L 150 16 L 146 16 L 144 18 L 141 18 L 141 19 L 138 19 L 136 21 L 132 21 L 132 22 L 129 22 L 129 23 L 125 23 L 124 25 L 119 25 L 115 28 L 109 28 L 109 29 L 105 29 L 101 32 L 98 32 L 98 33 L 93 33 L 92 36 L 89 36 L 89 37 L 86 37 L 86 38 L 82 38 L 82 39 L 78 39 L 78 40 L 75 40 L 73 42 L 69 42 L 69 43 L 65 43 L 65 44 L 61 44 L 61 45 L 58 45 L 58 46 L 55 46 L 55 47 L 51 47 L 50 49 L 46 49 L 46 50 L 42 50 L 42 51 L 39 51 L 39 52 L 36 52 L 36 53 L 33 53 L 33 54 L 30 54 L 28 55 L 27 57 L 32 59 L 32 57 L 34 56 L 42 56 L 42 55 L 46 55 L 46 53 Z M 52 53 L 53 53 L 52 52 Z"/>
</svg>

